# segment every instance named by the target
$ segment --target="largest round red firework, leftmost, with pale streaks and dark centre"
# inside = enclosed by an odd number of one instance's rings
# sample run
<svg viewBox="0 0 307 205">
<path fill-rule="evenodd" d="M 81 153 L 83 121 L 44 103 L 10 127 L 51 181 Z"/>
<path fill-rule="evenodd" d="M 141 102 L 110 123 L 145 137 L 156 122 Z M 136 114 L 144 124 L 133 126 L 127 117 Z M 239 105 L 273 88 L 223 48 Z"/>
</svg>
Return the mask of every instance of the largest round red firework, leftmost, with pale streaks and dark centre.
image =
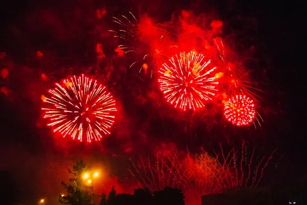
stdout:
<svg viewBox="0 0 307 205">
<path fill-rule="evenodd" d="M 96 80 L 74 76 L 64 79 L 62 85 L 56 84 L 49 93 L 50 97 L 42 98 L 47 103 L 42 110 L 54 132 L 80 141 L 86 138 L 88 142 L 110 133 L 115 100 Z"/>
</svg>

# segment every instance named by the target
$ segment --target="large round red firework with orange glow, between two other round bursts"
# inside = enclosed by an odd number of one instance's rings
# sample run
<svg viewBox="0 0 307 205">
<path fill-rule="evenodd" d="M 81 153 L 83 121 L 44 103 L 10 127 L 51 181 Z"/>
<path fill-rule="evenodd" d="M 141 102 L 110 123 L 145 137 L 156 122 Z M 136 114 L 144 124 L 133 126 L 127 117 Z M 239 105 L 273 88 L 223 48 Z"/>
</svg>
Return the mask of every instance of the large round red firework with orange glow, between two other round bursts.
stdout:
<svg viewBox="0 0 307 205">
<path fill-rule="evenodd" d="M 189 52 L 172 57 L 160 69 L 159 84 L 170 104 L 187 110 L 196 110 L 204 106 L 217 91 L 216 76 L 210 59 L 202 54 Z"/>
</svg>

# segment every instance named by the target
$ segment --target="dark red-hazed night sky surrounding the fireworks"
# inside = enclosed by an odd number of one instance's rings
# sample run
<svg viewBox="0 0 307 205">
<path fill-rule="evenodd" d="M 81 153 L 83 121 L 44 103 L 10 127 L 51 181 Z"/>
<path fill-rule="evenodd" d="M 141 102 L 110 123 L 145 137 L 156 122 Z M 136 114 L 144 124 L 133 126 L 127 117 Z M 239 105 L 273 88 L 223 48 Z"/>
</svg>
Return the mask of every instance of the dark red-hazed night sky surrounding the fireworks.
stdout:
<svg viewBox="0 0 307 205">
<path fill-rule="evenodd" d="M 102 8 L 106 14 L 97 20 L 96 10 Z M 278 162 L 278 168 L 274 173 L 268 169 L 266 180 L 305 179 L 303 8 L 295 1 L 3 2 L 0 52 L 7 56 L 0 59 L 0 70 L 7 68 L 9 74 L 0 77 L 0 87 L 7 91 L 0 92 L 0 171 L 11 173 L 20 200 L 27 203 L 41 197 L 56 200 L 63 192 L 60 181 L 68 178 L 67 168 L 80 159 L 104 167 L 103 189 L 114 184 L 119 192 L 130 192 L 136 183 L 126 171 L 129 157 L 152 155 L 159 149 L 212 151 L 220 143 L 239 148 L 245 139 L 262 154 L 278 149 L 272 162 Z M 259 82 L 261 127 L 229 125 L 213 104 L 197 113 L 172 108 L 164 102 L 155 77 L 128 69 L 133 60 L 114 52 L 118 44 L 107 31 L 113 26 L 112 16 L 147 13 L 164 23 L 182 10 L 194 13 L 195 19 L 223 20 L 221 36 Z M 102 44 L 105 59 L 95 74 L 97 43 Z M 37 51 L 44 54 L 43 65 Z M 48 81 L 40 78 L 41 73 L 48 74 Z M 61 78 L 80 73 L 105 84 L 119 110 L 112 134 L 91 145 L 52 134 L 41 119 L 40 96 Z"/>
</svg>

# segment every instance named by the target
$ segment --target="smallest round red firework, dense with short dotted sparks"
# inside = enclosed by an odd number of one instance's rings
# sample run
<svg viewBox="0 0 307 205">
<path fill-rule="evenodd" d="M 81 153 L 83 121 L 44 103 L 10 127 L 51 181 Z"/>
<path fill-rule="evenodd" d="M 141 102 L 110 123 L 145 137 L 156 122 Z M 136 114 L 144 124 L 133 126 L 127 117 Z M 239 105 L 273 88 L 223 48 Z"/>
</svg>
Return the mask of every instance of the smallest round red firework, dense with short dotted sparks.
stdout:
<svg viewBox="0 0 307 205">
<path fill-rule="evenodd" d="M 245 95 L 236 95 L 230 98 L 224 110 L 226 119 L 237 126 L 250 124 L 255 118 L 255 113 L 253 100 Z"/>
</svg>

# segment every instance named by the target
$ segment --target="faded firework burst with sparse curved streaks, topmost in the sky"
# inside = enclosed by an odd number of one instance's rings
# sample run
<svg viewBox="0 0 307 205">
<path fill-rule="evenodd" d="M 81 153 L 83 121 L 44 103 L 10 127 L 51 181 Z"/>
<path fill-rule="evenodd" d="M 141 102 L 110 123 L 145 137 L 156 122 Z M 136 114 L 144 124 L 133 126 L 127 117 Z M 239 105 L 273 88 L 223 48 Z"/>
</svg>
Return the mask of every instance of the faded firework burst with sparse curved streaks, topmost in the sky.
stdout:
<svg viewBox="0 0 307 205">
<path fill-rule="evenodd" d="M 140 72 L 143 70 L 145 74 L 150 73 L 152 77 L 153 70 L 173 56 L 177 49 L 164 25 L 155 24 L 146 15 L 137 20 L 135 15 L 129 12 L 127 16 L 113 17 L 113 22 L 119 28 L 109 31 L 114 33 L 114 37 L 119 38 L 118 49 L 135 55 L 136 61 L 129 68 L 139 67 Z"/>
</svg>

